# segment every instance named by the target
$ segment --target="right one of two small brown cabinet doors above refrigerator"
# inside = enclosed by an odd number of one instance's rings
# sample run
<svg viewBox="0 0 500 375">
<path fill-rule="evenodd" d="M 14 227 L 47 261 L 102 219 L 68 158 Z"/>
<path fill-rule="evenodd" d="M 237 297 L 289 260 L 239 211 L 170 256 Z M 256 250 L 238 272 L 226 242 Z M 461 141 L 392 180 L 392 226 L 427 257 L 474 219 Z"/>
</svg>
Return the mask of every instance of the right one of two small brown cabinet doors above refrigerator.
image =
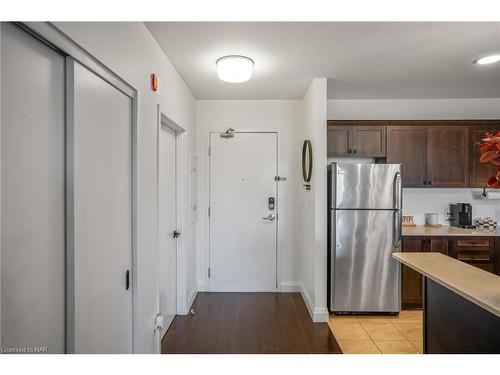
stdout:
<svg viewBox="0 0 500 375">
<path fill-rule="evenodd" d="M 352 128 L 353 150 L 355 156 L 384 157 L 385 126 L 354 126 Z"/>
</svg>

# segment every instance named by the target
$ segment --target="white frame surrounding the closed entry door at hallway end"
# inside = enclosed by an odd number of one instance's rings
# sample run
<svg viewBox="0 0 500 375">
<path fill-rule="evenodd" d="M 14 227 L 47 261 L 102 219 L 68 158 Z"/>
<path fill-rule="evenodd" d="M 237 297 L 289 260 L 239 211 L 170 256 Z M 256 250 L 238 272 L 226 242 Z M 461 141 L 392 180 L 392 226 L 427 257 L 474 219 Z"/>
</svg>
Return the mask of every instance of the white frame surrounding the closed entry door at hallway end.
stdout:
<svg viewBox="0 0 500 375">
<path fill-rule="evenodd" d="M 207 213 L 207 244 L 206 244 L 206 249 L 207 249 L 207 253 L 206 253 L 206 280 L 207 280 L 207 290 L 210 292 L 211 291 L 211 283 L 210 283 L 210 277 L 208 275 L 208 269 L 210 269 L 210 262 L 211 262 L 211 248 L 210 248 L 210 244 L 211 244 L 211 217 L 210 215 L 208 214 L 209 213 L 209 208 L 211 207 L 211 197 L 212 197 L 212 192 L 211 192 L 211 178 L 212 178 L 212 163 L 211 163 L 211 149 L 212 149 L 212 144 L 211 144 L 211 136 L 212 134 L 221 134 L 223 133 L 225 130 L 221 130 L 221 131 L 215 131 L 215 130 L 210 130 L 208 131 L 208 146 L 207 146 L 207 179 L 206 179 L 206 182 L 205 182 L 205 191 L 207 192 L 207 195 L 208 195 L 208 199 L 207 199 L 207 209 L 206 209 L 206 213 Z M 234 131 L 234 134 L 242 134 L 242 133 L 253 133 L 253 134 L 275 134 L 276 135 L 276 176 L 279 176 L 280 175 L 280 133 L 278 131 L 262 131 L 262 130 L 252 130 L 252 129 L 239 129 L 239 130 L 235 130 Z M 276 292 L 281 292 L 281 251 L 280 251 L 280 247 L 279 247 L 279 211 L 280 211 L 280 198 L 279 198 L 279 181 L 275 180 L 275 184 L 276 184 L 276 235 L 275 235 L 275 291 Z"/>
</svg>

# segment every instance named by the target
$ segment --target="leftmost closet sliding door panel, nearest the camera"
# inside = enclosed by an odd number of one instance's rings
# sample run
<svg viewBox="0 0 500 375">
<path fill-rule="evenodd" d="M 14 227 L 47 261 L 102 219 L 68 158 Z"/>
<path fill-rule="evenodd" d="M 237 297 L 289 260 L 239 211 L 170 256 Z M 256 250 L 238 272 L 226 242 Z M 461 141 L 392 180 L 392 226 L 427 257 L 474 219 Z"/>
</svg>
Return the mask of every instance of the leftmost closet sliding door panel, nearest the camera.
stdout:
<svg viewBox="0 0 500 375">
<path fill-rule="evenodd" d="M 2 347 L 64 353 L 64 57 L 1 35 Z"/>
</svg>

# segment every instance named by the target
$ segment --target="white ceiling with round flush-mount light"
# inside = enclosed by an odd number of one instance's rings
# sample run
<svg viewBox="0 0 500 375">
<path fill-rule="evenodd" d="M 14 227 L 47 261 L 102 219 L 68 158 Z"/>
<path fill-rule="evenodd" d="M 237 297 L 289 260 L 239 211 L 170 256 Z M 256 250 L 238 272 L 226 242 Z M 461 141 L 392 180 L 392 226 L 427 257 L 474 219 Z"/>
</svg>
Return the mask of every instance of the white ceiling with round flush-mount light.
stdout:
<svg viewBox="0 0 500 375">
<path fill-rule="evenodd" d="M 329 99 L 500 97 L 500 22 L 146 22 L 198 99 L 298 99 L 328 78 Z M 217 78 L 224 55 L 255 61 L 245 83 Z"/>
</svg>

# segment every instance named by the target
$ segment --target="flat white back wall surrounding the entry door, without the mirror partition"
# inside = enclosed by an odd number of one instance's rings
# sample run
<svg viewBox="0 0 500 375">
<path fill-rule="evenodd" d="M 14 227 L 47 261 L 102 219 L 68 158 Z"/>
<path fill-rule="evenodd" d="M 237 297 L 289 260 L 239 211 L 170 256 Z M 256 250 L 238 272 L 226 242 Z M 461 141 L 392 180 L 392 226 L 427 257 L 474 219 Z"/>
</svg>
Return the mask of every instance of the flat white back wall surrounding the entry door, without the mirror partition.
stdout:
<svg viewBox="0 0 500 375">
<path fill-rule="evenodd" d="M 279 270 L 283 291 L 297 290 L 293 256 L 293 217 L 300 215 L 294 205 L 294 177 L 300 172 L 300 146 L 295 141 L 302 125 L 300 100 L 200 100 L 198 122 L 198 287 L 207 290 L 208 278 L 208 134 L 210 131 L 236 130 L 278 132 L 278 170 L 286 181 L 278 183 L 279 194 Z"/>
</svg>

